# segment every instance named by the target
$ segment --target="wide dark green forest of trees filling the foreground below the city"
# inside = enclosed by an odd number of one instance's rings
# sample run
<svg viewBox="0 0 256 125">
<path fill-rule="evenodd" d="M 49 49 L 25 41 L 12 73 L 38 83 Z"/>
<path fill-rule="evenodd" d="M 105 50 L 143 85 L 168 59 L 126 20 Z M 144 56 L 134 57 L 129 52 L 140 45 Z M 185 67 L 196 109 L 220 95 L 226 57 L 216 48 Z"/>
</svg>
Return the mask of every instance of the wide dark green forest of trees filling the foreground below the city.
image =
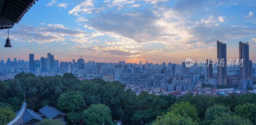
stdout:
<svg viewBox="0 0 256 125">
<path fill-rule="evenodd" d="M 34 110 L 49 105 L 67 113 L 67 124 L 116 125 L 256 125 L 256 94 L 229 96 L 172 95 L 137 96 L 125 85 L 101 79 L 78 80 L 73 74 L 35 76 L 19 73 L 0 80 L 0 125 L 14 117 L 24 101 Z M 74 121 L 74 122 L 71 122 Z M 45 119 L 38 124 L 54 123 Z"/>
</svg>

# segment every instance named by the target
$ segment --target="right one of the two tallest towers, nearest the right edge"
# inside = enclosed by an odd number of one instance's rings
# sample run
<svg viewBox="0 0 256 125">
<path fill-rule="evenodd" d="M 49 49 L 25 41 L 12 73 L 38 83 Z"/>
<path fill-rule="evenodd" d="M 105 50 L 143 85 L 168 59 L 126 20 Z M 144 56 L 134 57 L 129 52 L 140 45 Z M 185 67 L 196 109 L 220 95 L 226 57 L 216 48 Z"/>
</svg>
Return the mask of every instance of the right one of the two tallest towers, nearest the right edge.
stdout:
<svg viewBox="0 0 256 125">
<path fill-rule="evenodd" d="M 249 44 L 248 42 L 239 42 L 239 59 L 243 59 L 243 63 L 239 66 L 239 76 L 241 80 L 247 80 L 252 77 L 252 67 L 249 60 Z M 240 61 L 241 61 L 240 60 Z"/>
</svg>

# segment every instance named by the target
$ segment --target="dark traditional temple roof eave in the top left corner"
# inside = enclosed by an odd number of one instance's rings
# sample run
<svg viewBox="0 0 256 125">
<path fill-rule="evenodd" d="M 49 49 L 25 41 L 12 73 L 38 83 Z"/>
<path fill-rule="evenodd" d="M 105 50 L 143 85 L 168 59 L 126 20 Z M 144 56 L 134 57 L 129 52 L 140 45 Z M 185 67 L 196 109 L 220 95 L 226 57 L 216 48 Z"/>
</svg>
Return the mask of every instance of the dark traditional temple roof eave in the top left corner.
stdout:
<svg viewBox="0 0 256 125">
<path fill-rule="evenodd" d="M 38 0 L 36 0 L 38 1 Z M 35 0 L 1 0 L 0 29 L 12 28 L 35 4 Z"/>
</svg>

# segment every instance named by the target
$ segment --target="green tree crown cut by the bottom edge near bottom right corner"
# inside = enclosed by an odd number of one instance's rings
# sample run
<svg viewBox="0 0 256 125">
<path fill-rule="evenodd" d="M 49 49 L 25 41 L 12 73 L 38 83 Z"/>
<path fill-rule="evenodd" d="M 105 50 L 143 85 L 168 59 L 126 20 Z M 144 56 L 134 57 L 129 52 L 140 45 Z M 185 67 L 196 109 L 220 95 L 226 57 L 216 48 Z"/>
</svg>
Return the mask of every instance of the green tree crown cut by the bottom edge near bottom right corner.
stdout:
<svg viewBox="0 0 256 125">
<path fill-rule="evenodd" d="M 217 116 L 211 125 L 253 125 L 249 119 L 243 119 L 238 115 L 223 114 Z"/>
</svg>

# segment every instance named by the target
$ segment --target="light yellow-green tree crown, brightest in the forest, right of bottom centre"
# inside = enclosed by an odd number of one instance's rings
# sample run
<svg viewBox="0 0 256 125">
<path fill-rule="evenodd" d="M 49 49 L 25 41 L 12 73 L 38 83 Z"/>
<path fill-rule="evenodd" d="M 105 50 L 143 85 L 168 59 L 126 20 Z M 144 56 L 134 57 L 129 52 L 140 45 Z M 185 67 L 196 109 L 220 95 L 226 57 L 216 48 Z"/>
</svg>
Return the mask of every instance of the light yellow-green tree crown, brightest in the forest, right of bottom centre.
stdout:
<svg viewBox="0 0 256 125">
<path fill-rule="evenodd" d="M 198 123 L 200 121 L 200 118 L 198 118 L 197 113 L 196 113 L 196 107 L 189 104 L 189 102 L 182 101 L 180 103 L 175 103 L 169 109 L 174 114 L 180 114 L 181 116 L 184 116 L 184 117 L 189 116 L 190 118 L 192 118 L 193 121 L 196 121 Z"/>
</svg>

